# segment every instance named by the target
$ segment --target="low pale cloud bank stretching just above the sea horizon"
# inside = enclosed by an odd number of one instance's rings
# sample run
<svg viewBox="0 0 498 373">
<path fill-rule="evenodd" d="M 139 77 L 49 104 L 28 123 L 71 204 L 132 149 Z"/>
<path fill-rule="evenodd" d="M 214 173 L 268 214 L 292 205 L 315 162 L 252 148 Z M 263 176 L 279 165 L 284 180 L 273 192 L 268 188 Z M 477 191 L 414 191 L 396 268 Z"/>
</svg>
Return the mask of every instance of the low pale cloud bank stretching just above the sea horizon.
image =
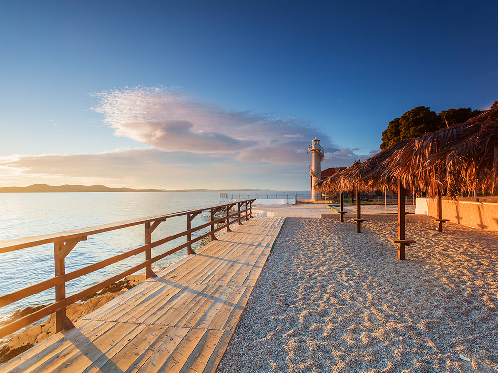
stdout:
<svg viewBox="0 0 498 373">
<path fill-rule="evenodd" d="M 268 175 L 279 175 L 268 179 Z M 156 188 L 299 188 L 307 170 L 295 165 L 254 164 L 231 158 L 154 148 L 97 154 L 12 155 L 0 158 L 0 185 L 105 184 Z M 13 183 L 16 180 L 17 182 Z"/>
</svg>

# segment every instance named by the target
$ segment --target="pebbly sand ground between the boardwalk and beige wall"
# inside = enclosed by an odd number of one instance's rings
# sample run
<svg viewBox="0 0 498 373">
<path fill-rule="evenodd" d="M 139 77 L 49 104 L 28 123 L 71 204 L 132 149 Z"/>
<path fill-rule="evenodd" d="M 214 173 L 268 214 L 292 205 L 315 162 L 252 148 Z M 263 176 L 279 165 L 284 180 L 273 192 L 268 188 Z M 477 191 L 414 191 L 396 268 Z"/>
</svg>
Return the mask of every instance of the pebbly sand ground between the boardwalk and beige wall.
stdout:
<svg viewBox="0 0 498 373">
<path fill-rule="evenodd" d="M 395 220 L 287 219 L 217 372 L 497 372 L 498 232 Z"/>
</svg>

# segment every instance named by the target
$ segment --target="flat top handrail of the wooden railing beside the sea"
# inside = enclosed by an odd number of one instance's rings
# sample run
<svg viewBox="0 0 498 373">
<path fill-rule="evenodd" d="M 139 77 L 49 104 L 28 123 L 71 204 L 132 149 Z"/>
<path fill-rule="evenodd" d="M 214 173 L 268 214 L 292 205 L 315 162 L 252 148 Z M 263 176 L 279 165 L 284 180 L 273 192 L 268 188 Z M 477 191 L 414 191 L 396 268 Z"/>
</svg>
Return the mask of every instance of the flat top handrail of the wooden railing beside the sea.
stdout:
<svg viewBox="0 0 498 373">
<path fill-rule="evenodd" d="M 170 212 L 170 213 L 161 214 L 161 215 L 152 215 L 152 216 L 147 216 L 147 217 L 143 217 L 143 218 L 119 221 L 116 223 L 101 224 L 101 225 L 95 225 L 92 227 L 77 228 L 77 229 L 71 229 L 68 231 L 62 231 L 62 232 L 56 232 L 56 233 L 47 233 L 47 234 L 41 234 L 41 235 L 31 236 L 31 237 L 14 238 L 11 240 L 0 241 L 0 253 L 6 253 L 9 251 L 14 251 L 14 250 L 19 250 L 19 249 L 24 249 L 27 247 L 33 247 L 33 246 L 49 244 L 49 243 L 54 243 L 54 242 L 66 242 L 68 240 L 72 240 L 72 239 L 80 238 L 80 237 L 86 237 L 86 236 L 90 236 L 92 234 L 109 232 L 109 231 L 113 231 L 116 229 L 132 227 L 134 225 L 151 223 L 151 222 L 155 222 L 155 221 L 159 221 L 159 220 L 163 220 L 163 219 L 168 219 L 168 218 L 172 218 L 172 217 L 176 217 L 176 216 L 186 215 L 189 213 L 190 214 L 199 213 L 199 212 L 202 212 L 205 210 L 210 210 L 212 208 L 220 208 L 220 207 L 225 207 L 227 205 L 235 205 L 236 203 L 250 202 L 250 201 L 255 201 L 255 200 L 256 200 L 255 198 L 249 198 L 249 199 L 238 200 L 236 202 L 221 203 L 221 204 L 216 204 L 213 206 L 207 206 L 207 207 L 196 208 L 196 209 L 191 209 L 191 210 L 175 211 L 175 212 Z"/>
</svg>

